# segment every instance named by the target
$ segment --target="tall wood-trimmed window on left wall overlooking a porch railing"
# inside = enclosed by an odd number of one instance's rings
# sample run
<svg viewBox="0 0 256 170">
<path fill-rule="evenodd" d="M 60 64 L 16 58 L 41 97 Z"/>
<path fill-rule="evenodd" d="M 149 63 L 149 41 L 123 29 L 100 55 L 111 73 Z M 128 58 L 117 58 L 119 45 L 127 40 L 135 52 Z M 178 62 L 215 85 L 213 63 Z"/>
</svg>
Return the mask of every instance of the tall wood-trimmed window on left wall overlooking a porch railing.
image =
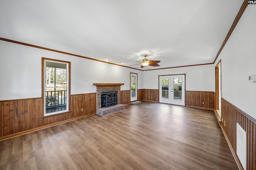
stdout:
<svg viewBox="0 0 256 170">
<path fill-rule="evenodd" d="M 44 116 L 69 111 L 70 62 L 42 58 Z"/>
</svg>

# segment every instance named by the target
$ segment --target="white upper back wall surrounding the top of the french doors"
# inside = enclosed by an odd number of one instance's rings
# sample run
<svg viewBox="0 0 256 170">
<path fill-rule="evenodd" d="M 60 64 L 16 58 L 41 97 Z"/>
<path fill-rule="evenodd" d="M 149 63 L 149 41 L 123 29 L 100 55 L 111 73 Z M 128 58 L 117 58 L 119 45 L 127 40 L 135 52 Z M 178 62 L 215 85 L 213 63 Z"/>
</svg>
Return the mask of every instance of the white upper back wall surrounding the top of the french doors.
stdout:
<svg viewBox="0 0 256 170">
<path fill-rule="evenodd" d="M 215 92 L 214 64 L 144 71 L 144 88 L 158 89 L 158 76 L 186 74 L 186 90 Z"/>
</svg>

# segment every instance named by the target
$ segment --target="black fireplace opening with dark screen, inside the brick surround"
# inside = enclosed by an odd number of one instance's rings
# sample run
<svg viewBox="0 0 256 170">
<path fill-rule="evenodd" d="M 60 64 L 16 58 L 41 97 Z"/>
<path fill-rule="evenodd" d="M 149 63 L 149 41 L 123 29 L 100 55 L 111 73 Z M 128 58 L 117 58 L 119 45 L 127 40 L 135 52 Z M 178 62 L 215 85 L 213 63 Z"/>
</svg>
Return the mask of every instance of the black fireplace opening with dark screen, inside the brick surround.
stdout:
<svg viewBox="0 0 256 170">
<path fill-rule="evenodd" d="M 101 108 L 116 106 L 117 92 L 101 93 Z"/>
</svg>

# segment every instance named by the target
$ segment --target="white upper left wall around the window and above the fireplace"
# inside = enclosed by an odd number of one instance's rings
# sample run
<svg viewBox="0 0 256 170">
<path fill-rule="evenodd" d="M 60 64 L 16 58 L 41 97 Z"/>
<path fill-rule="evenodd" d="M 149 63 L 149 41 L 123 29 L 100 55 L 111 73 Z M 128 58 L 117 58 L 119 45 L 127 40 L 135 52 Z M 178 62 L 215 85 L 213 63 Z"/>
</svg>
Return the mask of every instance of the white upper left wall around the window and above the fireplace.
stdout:
<svg viewBox="0 0 256 170">
<path fill-rule="evenodd" d="M 140 70 L 0 41 L 0 100 L 42 96 L 42 57 L 71 62 L 71 94 L 95 93 L 93 83 L 124 83 L 121 90 L 130 90 L 130 72 L 143 88 Z"/>
</svg>

